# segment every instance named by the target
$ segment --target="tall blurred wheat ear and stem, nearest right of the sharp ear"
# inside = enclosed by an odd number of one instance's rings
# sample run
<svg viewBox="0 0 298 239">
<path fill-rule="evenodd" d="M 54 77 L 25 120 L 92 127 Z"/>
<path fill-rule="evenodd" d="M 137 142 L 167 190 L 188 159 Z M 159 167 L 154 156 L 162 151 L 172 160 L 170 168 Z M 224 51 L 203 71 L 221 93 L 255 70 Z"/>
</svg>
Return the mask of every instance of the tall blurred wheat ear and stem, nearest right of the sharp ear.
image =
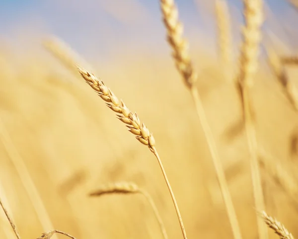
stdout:
<svg viewBox="0 0 298 239">
<path fill-rule="evenodd" d="M 172 56 L 174 58 L 176 68 L 182 76 L 184 83 L 191 92 L 200 123 L 204 130 L 204 134 L 211 153 L 212 161 L 216 170 L 216 175 L 220 184 L 221 192 L 224 199 L 227 215 L 232 228 L 232 233 L 235 239 L 241 239 L 239 223 L 232 203 L 232 199 L 228 190 L 227 182 L 224 175 L 224 169 L 219 158 L 215 139 L 212 135 L 206 113 L 198 92 L 195 86 L 197 74 L 194 71 L 188 52 L 188 43 L 183 38 L 182 23 L 178 19 L 178 10 L 173 0 L 160 0 L 163 22 L 167 30 L 167 41 L 172 48 Z M 184 235 L 186 238 L 186 235 Z"/>
</svg>

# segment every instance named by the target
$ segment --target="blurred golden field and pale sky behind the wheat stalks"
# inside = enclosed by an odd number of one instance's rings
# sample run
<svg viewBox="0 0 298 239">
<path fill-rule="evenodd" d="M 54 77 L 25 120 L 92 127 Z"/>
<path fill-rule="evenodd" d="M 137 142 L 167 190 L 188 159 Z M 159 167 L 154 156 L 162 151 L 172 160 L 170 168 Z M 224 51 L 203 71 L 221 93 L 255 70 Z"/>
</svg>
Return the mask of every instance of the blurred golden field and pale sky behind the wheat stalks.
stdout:
<svg viewBox="0 0 298 239">
<path fill-rule="evenodd" d="M 46 230 L 59 229 L 77 239 L 161 238 L 142 196 L 88 197 L 100 185 L 116 181 L 133 181 L 147 190 L 169 238 L 182 238 L 156 159 L 78 74 L 43 48 L 43 39 L 52 34 L 77 50 L 153 132 L 188 238 L 232 237 L 202 127 L 165 41 L 158 1 L 25 2 L 0 3 L 0 197 L 22 239 L 38 238 L 45 231 L 43 220 L 54 227 Z M 255 239 L 247 141 L 243 130 L 234 132 L 241 108 L 234 85 L 223 78 L 214 1 L 177 3 L 242 235 Z M 237 72 L 242 6 L 228 4 Z M 266 2 L 265 13 L 263 45 L 295 55 L 295 9 L 273 0 Z M 287 72 L 296 86 L 296 67 Z M 272 164 L 279 163 L 297 180 L 298 112 L 264 53 L 253 105 L 259 145 Z M 297 235 L 298 201 L 266 170 L 261 174 L 266 211 Z M 40 218 L 38 209 L 45 209 L 48 218 Z M 4 213 L 0 215 L 0 239 L 13 238 Z M 270 237 L 277 236 L 270 232 Z"/>
</svg>

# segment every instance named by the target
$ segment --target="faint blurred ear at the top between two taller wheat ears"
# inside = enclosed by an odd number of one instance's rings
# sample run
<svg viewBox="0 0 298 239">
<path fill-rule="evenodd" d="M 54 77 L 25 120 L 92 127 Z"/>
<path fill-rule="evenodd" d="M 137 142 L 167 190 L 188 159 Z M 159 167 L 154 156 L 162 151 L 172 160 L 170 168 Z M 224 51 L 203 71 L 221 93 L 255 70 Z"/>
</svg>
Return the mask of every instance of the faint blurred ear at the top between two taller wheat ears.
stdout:
<svg viewBox="0 0 298 239">
<path fill-rule="evenodd" d="M 215 1 L 216 19 L 218 26 L 218 48 L 221 68 L 224 70 L 226 80 L 232 80 L 232 37 L 230 29 L 230 16 L 226 0 Z"/>
</svg>

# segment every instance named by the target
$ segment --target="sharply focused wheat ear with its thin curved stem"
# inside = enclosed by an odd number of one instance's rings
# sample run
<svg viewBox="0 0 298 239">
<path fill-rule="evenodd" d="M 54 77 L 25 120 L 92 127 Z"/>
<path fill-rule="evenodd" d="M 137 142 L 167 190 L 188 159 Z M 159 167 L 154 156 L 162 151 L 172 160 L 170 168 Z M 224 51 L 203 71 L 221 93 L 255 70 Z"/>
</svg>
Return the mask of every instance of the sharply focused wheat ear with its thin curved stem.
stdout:
<svg viewBox="0 0 298 239">
<path fill-rule="evenodd" d="M 177 217 L 179 220 L 179 224 L 183 233 L 184 238 L 186 239 L 186 233 L 184 229 L 184 224 L 181 218 L 181 214 L 179 211 L 178 204 L 176 202 L 174 193 L 172 191 L 170 182 L 165 173 L 163 164 L 161 159 L 157 153 L 155 148 L 155 140 L 153 138 L 152 133 L 149 132 L 148 128 L 145 126 L 143 122 L 140 121 L 137 113 L 132 113 L 125 103 L 122 100 L 119 100 L 116 95 L 102 82 L 102 80 L 96 78 L 93 74 L 87 72 L 85 69 L 81 67 L 77 67 L 79 74 L 82 78 L 93 88 L 93 90 L 106 102 L 106 105 L 117 113 L 117 118 L 126 124 L 128 130 L 136 136 L 136 139 L 140 141 L 142 144 L 148 146 L 149 150 L 156 157 L 158 164 L 160 166 L 161 172 L 163 174 L 166 185 L 169 189 Z"/>
</svg>

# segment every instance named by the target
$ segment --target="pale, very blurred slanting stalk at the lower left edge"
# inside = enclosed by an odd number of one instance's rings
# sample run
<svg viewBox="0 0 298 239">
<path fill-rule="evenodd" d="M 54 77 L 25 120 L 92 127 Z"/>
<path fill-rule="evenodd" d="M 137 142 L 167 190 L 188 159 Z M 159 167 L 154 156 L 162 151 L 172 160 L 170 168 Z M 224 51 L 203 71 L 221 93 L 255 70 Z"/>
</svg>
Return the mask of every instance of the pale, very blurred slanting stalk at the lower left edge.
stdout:
<svg viewBox="0 0 298 239">
<path fill-rule="evenodd" d="M 51 222 L 50 216 L 30 176 L 27 166 L 24 163 L 22 157 L 19 155 L 14 144 L 12 143 L 12 140 L 9 137 L 8 132 L 6 131 L 6 128 L 1 118 L 0 118 L 0 140 L 2 141 L 5 147 L 5 150 L 21 179 L 21 182 L 30 198 L 30 201 L 32 202 L 32 206 L 35 209 L 36 215 L 43 229 L 47 230 L 49 228 L 54 228 Z M 56 236 L 54 237 L 55 239 L 57 239 Z"/>
</svg>

